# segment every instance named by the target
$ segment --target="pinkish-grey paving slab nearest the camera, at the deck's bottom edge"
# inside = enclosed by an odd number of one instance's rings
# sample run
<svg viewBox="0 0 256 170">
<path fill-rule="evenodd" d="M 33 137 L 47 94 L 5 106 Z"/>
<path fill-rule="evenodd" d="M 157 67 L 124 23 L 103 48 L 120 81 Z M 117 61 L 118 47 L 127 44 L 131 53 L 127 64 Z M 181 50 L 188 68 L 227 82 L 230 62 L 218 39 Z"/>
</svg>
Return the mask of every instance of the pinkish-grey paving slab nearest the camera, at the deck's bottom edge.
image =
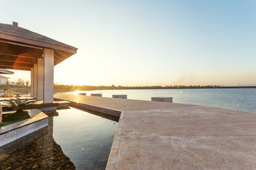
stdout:
<svg viewBox="0 0 256 170">
<path fill-rule="evenodd" d="M 124 135 L 115 169 L 255 169 L 255 136 Z"/>
</svg>

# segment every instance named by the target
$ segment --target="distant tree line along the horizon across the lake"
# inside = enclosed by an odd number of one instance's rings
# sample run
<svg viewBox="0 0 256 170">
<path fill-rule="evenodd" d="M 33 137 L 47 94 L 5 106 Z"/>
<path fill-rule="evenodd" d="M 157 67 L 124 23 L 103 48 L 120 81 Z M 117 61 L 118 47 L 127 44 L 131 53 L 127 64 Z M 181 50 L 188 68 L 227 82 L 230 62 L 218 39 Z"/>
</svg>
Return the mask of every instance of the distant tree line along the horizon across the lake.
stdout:
<svg viewBox="0 0 256 170">
<path fill-rule="evenodd" d="M 92 90 L 124 90 L 124 89 L 235 89 L 235 88 L 256 88 L 256 86 L 75 86 L 54 84 L 54 91 L 92 91 Z"/>
</svg>

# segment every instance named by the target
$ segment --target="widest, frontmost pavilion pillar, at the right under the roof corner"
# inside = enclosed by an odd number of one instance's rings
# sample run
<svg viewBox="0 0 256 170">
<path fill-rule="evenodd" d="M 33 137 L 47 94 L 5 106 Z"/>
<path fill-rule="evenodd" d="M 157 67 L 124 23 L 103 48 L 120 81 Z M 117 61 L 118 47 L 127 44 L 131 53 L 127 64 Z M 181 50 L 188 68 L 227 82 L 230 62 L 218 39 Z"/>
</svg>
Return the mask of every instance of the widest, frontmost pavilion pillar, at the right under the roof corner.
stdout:
<svg viewBox="0 0 256 170">
<path fill-rule="evenodd" d="M 44 86 L 43 103 L 53 103 L 53 69 L 54 69 L 54 50 L 45 48 L 44 57 Z"/>
</svg>

